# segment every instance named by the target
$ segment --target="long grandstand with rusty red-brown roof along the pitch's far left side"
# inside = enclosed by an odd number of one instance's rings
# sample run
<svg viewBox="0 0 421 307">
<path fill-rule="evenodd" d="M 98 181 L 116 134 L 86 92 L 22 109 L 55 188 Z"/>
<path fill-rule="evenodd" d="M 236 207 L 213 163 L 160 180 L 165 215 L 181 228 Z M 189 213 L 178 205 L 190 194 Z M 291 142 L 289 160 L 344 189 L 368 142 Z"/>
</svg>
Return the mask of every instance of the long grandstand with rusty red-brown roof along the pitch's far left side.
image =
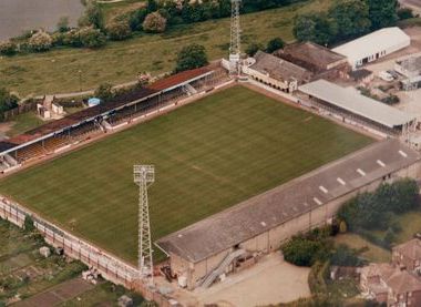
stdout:
<svg viewBox="0 0 421 307">
<path fill-rule="evenodd" d="M 216 66 L 185 71 L 0 142 L 0 172 L 6 173 L 30 160 L 55 153 L 96 134 L 114 130 L 147 112 L 209 91 L 226 80 L 226 73 Z"/>
</svg>

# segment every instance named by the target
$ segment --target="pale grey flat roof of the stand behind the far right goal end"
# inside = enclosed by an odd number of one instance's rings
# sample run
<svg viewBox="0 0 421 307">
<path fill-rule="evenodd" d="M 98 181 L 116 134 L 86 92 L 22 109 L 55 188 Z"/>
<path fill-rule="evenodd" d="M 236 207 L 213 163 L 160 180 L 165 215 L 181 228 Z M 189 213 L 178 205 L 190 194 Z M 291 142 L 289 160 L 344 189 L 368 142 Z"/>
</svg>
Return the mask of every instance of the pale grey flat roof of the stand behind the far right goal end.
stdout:
<svg viewBox="0 0 421 307">
<path fill-rule="evenodd" d="M 299 90 L 308 95 L 391 129 L 402 126 L 415 119 L 413 115 L 361 95 L 355 89 L 345 89 L 322 79 L 301 85 Z"/>
</svg>

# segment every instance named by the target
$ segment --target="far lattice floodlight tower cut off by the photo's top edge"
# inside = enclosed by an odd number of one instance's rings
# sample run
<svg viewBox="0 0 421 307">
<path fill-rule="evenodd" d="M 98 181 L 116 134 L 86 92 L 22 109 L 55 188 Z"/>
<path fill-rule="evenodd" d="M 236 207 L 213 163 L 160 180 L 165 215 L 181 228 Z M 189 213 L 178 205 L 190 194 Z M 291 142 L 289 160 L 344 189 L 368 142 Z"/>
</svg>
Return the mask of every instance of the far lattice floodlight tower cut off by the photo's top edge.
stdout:
<svg viewBox="0 0 421 307">
<path fill-rule="evenodd" d="M 229 62 L 232 73 L 239 74 L 239 64 L 242 57 L 242 28 L 239 23 L 239 4 L 242 0 L 232 0 L 230 9 L 230 43 L 229 43 Z"/>
</svg>

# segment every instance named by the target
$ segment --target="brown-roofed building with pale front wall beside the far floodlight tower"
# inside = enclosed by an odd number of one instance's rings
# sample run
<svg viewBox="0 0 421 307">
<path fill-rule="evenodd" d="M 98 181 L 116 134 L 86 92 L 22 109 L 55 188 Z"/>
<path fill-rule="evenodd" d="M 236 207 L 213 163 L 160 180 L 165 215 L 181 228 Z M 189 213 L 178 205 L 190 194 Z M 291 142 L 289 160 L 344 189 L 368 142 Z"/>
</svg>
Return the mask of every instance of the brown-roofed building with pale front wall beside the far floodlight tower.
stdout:
<svg viewBox="0 0 421 307">
<path fill-rule="evenodd" d="M 243 72 L 251 79 L 284 92 L 294 92 L 310 81 L 312 73 L 291 62 L 258 51 Z"/>
</svg>

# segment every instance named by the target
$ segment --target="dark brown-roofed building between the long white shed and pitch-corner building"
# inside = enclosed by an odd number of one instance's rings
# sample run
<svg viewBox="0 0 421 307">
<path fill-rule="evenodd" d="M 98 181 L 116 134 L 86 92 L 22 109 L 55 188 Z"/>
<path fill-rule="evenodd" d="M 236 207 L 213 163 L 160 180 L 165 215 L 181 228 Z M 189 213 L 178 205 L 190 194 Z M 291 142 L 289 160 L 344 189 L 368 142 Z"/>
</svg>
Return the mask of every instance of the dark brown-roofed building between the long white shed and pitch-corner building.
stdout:
<svg viewBox="0 0 421 307">
<path fill-rule="evenodd" d="M 289 44 L 274 54 L 311 71 L 317 79 L 347 78 L 350 71 L 346 57 L 312 42 Z"/>
</svg>

